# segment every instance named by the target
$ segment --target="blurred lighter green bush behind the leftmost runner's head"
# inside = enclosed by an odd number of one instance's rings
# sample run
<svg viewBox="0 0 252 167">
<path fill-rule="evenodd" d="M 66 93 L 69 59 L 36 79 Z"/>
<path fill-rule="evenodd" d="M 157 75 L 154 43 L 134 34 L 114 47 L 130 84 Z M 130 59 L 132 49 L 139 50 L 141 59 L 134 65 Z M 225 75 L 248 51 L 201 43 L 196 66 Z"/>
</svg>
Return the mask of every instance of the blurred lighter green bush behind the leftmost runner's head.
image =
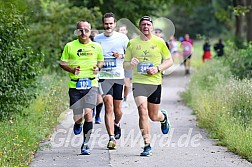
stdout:
<svg viewBox="0 0 252 167">
<path fill-rule="evenodd" d="M 30 5 L 35 6 L 30 13 L 30 41 L 33 48 L 45 55 L 44 66 L 53 70 L 59 69 L 64 45 L 76 38 L 76 23 L 85 19 L 96 27 L 97 18 L 101 17 L 99 8 L 71 7 L 68 1 L 31 1 Z"/>
</svg>

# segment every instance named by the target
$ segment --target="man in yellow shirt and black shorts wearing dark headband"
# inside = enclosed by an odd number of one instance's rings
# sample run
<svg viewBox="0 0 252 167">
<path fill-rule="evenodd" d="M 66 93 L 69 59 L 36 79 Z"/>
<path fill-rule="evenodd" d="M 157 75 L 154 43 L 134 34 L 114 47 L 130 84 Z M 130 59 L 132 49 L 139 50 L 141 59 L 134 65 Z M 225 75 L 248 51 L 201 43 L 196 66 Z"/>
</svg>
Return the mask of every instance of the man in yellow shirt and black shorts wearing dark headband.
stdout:
<svg viewBox="0 0 252 167">
<path fill-rule="evenodd" d="M 124 58 L 124 69 L 133 69 L 133 96 L 139 113 L 139 127 L 144 139 L 144 150 L 141 156 L 152 155 L 150 146 L 150 125 L 152 121 L 161 122 L 163 134 L 170 129 L 168 115 L 165 110 L 160 111 L 162 71 L 173 64 L 165 41 L 151 32 L 152 20 L 149 16 L 140 19 L 140 36 L 128 43 Z"/>
</svg>

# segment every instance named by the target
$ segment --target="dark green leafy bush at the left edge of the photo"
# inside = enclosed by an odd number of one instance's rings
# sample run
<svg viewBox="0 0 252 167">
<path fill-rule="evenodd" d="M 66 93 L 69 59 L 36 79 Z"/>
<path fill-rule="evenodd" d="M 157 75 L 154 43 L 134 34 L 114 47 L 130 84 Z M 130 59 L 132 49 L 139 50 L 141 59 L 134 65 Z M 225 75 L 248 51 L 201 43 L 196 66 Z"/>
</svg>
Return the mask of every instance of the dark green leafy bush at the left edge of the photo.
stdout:
<svg viewBox="0 0 252 167">
<path fill-rule="evenodd" d="M 22 5 L 16 8 L 9 2 L 0 6 L 0 119 L 29 104 L 35 96 L 32 88 L 36 87 L 36 76 L 41 72 L 42 57 L 27 41 L 27 23 L 24 11 L 19 9 Z"/>
</svg>

